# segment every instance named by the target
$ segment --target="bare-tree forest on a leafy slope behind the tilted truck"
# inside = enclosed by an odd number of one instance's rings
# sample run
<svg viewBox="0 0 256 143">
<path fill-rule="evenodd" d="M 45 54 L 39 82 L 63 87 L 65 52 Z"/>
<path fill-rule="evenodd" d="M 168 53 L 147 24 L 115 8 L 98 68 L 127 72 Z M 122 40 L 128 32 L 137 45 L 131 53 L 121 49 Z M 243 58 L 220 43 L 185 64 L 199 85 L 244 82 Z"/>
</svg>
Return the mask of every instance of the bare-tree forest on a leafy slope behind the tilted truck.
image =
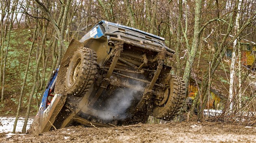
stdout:
<svg viewBox="0 0 256 143">
<path fill-rule="evenodd" d="M 165 38 L 171 72 L 197 90 L 192 111 L 216 108 L 214 91 L 219 109 L 255 116 L 255 0 L 0 0 L 0 19 L 0 114 L 35 114 L 69 42 L 106 20 Z"/>
</svg>

